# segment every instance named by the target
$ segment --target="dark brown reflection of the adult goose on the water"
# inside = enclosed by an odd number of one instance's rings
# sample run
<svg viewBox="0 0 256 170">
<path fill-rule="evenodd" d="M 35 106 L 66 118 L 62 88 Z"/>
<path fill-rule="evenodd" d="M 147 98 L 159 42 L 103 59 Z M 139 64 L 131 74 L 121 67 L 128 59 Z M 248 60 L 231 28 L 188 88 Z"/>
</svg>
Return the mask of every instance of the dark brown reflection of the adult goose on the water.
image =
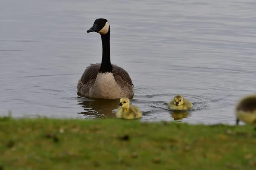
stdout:
<svg viewBox="0 0 256 170">
<path fill-rule="evenodd" d="M 113 118 L 115 117 L 114 109 L 117 109 L 118 99 L 84 99 L 78 98 L 78 105 L 81 105 L 83 111 L 80 114 L 90 118 Z"/>
</svg>

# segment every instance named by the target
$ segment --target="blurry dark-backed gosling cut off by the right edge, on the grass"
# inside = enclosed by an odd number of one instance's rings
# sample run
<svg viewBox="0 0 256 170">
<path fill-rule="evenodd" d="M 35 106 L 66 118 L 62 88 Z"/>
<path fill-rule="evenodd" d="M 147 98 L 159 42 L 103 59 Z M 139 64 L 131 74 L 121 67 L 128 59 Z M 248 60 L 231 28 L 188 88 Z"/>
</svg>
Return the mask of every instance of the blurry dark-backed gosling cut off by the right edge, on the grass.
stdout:
<svg viewBox="0 0 256 170">
<path fill-rule="evenodd" d="M 239 124 L 240 120 L 247 124 L 256 125 L 256 94 L 245 96 L 236 105 L 236 125 Z"/>
</svg>

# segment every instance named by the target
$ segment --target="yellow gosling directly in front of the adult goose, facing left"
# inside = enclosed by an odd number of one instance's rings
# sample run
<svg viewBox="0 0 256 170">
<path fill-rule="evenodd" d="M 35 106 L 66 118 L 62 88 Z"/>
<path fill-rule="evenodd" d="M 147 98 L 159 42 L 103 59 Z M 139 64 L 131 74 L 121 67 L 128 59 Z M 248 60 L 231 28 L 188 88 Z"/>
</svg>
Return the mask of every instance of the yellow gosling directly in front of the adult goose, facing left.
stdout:
<svg viewBox="0 0 256 170">
<path fill-rule="evenodd" d="M 116 111 L 117 118 L 137 119 L 142 116 L 140 109 L 137 106 L 130 105 L 128 98 L 121 98 L 119 106 Z"/>
</svg>

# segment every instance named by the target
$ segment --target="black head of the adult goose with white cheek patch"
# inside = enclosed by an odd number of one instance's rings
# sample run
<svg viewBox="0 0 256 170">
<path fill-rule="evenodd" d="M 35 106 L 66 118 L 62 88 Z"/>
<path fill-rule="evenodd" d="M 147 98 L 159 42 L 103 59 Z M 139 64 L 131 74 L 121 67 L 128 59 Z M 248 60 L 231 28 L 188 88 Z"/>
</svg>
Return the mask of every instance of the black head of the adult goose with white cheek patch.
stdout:
<svg viewBox="0 0 256 170">
<path fill-rule="evenodd" d="M 94 21 L 93 26 L 87 30 L 87 32 L 97 32 L 101 35 L 108 34 L 110 26 L 108 20 L 104 18 L 98 18 Z"/>
</svg>

